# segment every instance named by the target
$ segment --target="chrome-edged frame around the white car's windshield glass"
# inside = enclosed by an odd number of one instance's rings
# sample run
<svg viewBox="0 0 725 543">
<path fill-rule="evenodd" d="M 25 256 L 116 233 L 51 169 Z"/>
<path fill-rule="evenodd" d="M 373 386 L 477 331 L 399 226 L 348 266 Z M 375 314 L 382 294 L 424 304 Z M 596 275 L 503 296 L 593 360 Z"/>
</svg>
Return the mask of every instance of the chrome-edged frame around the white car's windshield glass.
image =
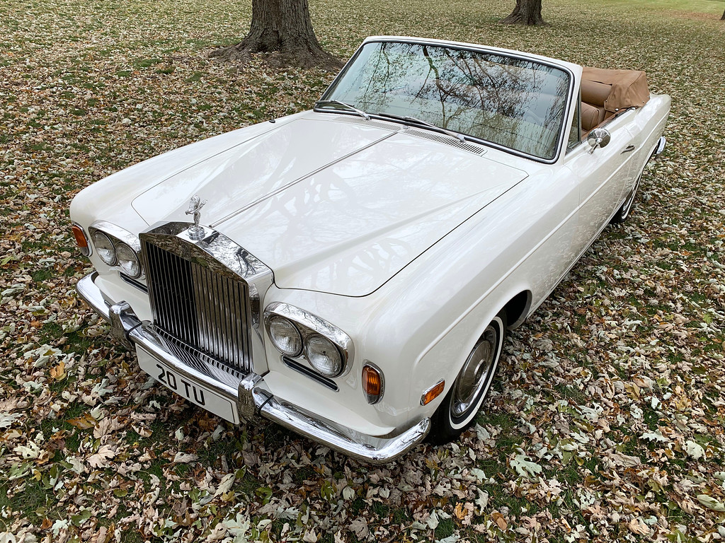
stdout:
<svg viewBox="0 0 725 543">
<path fill-rule="evenodd" d="M 454 49 L 457 51 L 473 51 L 476 53 L 484 53 L 484 54 L 491 54 L 491 55 L 497 55 L 497 56 L 507 56 L 511 59 L 521 59 L 526 60 L 528 62 L 534 62 L 537 64 L 542 64 L 543 66 L 548 66 L 551 68 L 555 68 L 557 70 L 561 70 L 562 72 L 566 73 L 569 77 L 569 91 L 568 96 L 566 96 L 566 103 L 564 105 L 564 114 L 562 116 L 561 125 L 559 127 L 559 138 L 558 143 L 556 147 L 556 152 L 554 153 L 554 156 L 551 159 L 542 159 L 540 156 L 535 156 L 529 153 L 524 153 L 523 151 L 517 151 L 516 149 L 502 146 L 499 143 L 494 143 L 489 140 L 483 140 L 481 138 L 476 138 L 476 136 L 465 134 L 465 132 L 457 132 L 463 135 L 463 137 L 467 141 L 472 141 L 473 143 L 479 143 L 481 145 L 492 147 L 494 149 L 498 149 L 500 151 L 505 151 L 506 153 L 513 154 L 515 156 L 522 156 L 525 159 L 530 159 L 533 161 L 541 162 L 542 164 L 555 164 L 559 161 L 562 155 L 563 148 L 566 148 L 564 145 L 564 140 L 568 138 L 568 133 L 565 135 L 564 130 L 565 126 L 568 126 L 567 120 L 569 119 L 569 116 L 571 114 L 571 104 L 573 100 L 573 91 L 574 91 L 574 84 L 575 84 L 575 77 L 571 70 L 568 69 L 568 67 L 563 66 L 561 64 L 555 64 L 554 62 L 547 62 L 544 59 L 540 59 L 537 56 L 529 56 L 525 53 L 516 54 L 513 51 L 502 51 L 501 49 L 495 49 L 495 48 L 486 48 L 484 46 L 475 46 L 475 45 L 467 45 L 463 43 L 456 43 L 456 42 L 447 42 L 447 41 L 439 41 L 439 40 L 426 40 L 421 38 L 402 38 L 399 36 L 392 36 L 390 38 L 385 38 L 381 36 L 376 36 L 374 38 L 368 38 L 360 45 L 360 47 L 357 48 L 357 51 L 355 51 L 355 54 L 353 54 L 350 59 L 345 63 L 345 65 L 342 67 L 342 70 L 340 70 L 339 74 L 335 76 L 335 79 L 330 83 L 328 88 L 326 88 L 325 92 L 322 93 L 322 96 L 320 96 L 320 99 L 318 101 L 328 100 L 328 94 L 332 92 L 332 89 L 336 87 L 337 83 L 341 78 L 345 75 L 348 68 L 352 65 L 353 62 L 355 62 L 355 59 L 357 59 L 358 56 L 360 56 L 360 52 L 363 51 L 363 47 L 368 45 L 369 43 L 415 43 L 418 45 L 431 45 L 431 46 L 437 46 L 437 47 L 444 47 L 447 49 Z M 344 109 L 328 109 L 328 108 L 320 108 L 315 106 L 313 108 L 313 111 L 317 111 L 318 113 L 331 113 L 334 111 L 337 114 L 344 114 L 344 115 L 355 115 L 357 114 L 354 111 L 345 111 Z M 381 115 L 377 115 L 374 113 L 370 113 L 369 111 L 365 111 L 368 115 L 370 115 L 371 119 L 380 119 L 380 120 L 386 120 L 388 122 L 402 122 L 402 121 L 395 121 L 394 119 L 390 119 L 389 117 L 383 117 Z M 431 127 L 426 127 L 425 125 L 418 125 L 417 123 L 410 123 L 410 125 L 415 127 L 421 127 L 421 128 L 427 128 L 428 130 L 435 130 Z M 441 131 L 451 131 L 456 132 L 456 130 L 450 130 L 448 128 L 442 128 L 437 127 Z"/>
</svg>

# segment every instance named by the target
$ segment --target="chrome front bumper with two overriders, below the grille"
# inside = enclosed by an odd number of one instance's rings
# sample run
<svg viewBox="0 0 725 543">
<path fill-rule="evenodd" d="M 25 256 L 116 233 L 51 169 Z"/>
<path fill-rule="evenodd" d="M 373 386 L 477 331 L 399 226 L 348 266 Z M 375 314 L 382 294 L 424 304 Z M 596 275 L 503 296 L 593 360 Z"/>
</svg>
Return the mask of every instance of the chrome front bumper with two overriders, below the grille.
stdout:
<svg viewBox="0 0 725 543">
<path fill-rule="evenodd" d="M 128 348 L 138 345 L 146 353 L 171 366 L 174 371 L 191 382 L 210 388 L 216 394 L 231 400 L 241 417 L 249 421 L 255 416 L 270 419 L 293 432 L 319 442 L 331 449 L 368 463 L 386 463 L 421 442 L 431 426 L 430 418 L 411 426 L 394 437 L 375 437 L 361 434 L 346 426 L 305 411 L 296 405 L 275 397 L 266 389 L 264 378 L 249 374 L 234 379 L 230 374 L 199 362 L 194 367 L 182 360 L 169 342 L 154 332 L 153 324 L 141 321 L 125 301 L 109 305 L 96 287 L 94 272 L 78 281 L 80 298 L 111 324 L 111 335 Z M 222 376 L 226 376 L 223 379 Z M 238 384 L 236 384 L 238 382 Z"/>
</svg>

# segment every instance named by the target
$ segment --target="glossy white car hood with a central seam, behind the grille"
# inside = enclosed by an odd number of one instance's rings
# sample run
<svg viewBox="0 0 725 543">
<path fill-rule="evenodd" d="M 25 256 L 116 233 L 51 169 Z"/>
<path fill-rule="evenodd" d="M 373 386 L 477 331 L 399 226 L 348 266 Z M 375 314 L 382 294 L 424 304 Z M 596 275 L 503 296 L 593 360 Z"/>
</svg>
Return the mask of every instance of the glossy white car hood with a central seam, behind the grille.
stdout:
<svg viewBox="0 0 725 543">
<path fill-rule="evenodd" d="M 168 177 L 132 205 L 149 224 L 188 221 L 198 194 L 202 224 L 270 266 L 278 287 L 363 296 L 526 177 L 455 143 L 311 114 Z"/>
</svg>

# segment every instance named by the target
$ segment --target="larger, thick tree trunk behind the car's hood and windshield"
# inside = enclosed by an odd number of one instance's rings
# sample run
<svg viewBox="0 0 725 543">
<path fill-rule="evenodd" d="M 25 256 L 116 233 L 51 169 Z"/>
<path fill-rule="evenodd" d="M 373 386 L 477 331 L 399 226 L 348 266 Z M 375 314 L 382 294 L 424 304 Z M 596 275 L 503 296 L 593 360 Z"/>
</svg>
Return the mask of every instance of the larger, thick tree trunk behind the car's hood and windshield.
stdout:
<svg viewBox="0 0 725 543">
<path fill-rule="evenodd" d="M 322 49 L 312 29 L 307 0 L 252 0 L 252 26 L 244 40 L 212 51 L 211 56 L 245 62 L 266 53 L 278 67 L 339 70 L 342 62 Z"/>
</svg>

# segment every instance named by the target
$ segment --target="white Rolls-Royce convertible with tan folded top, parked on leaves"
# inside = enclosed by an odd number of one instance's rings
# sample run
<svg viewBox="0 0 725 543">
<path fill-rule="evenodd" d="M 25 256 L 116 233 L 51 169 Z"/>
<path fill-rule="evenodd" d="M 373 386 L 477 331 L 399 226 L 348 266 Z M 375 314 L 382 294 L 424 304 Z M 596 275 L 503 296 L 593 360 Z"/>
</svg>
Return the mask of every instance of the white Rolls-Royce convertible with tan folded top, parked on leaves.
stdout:
<svg viewBox="0 0 725 543">
<path fill-rule="evenodd" d="M 669 107 L 644 72 L 368 38 L 312 111 L 82 190 L 78 292 L 189 402 L 386 462 L 473 421 Z"/>
</svg>

